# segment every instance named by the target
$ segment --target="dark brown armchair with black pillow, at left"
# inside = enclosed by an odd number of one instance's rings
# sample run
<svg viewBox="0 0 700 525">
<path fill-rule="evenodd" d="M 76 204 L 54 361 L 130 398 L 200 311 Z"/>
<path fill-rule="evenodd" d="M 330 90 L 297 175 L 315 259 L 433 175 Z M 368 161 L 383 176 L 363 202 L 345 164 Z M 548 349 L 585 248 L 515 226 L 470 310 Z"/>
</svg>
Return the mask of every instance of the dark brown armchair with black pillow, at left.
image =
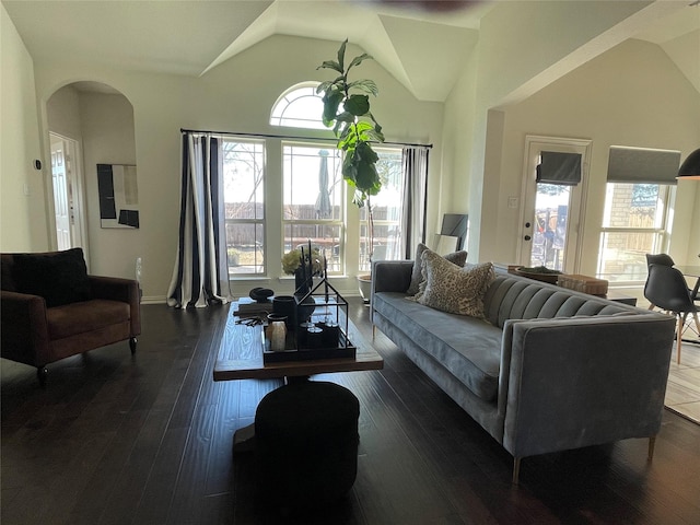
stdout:
<svg viewBox="0 0 700 525">
<path fill-rule="evenodd" d="M 141 334 L 136 280 L 89 276 L 81 248 L 0 254 L 1 355 L 37 369 Z"/>
</svg>

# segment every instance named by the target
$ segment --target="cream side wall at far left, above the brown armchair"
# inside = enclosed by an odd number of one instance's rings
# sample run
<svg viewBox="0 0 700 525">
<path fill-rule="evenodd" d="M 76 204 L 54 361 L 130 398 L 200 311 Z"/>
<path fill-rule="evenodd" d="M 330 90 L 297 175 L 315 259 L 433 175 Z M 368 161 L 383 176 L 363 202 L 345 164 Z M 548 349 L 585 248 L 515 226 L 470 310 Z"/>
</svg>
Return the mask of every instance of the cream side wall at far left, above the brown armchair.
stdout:
<svg viewBox="0 0 700 525">
<path fill-rule="evenodd" d="M 44 182 L 50 162 L 39 143 L 34 66 L 4 7 L 0 5 L 0 250 L 49 249 Z M 44 168 L 36 171 L 34 160 Z"/>
</svg>

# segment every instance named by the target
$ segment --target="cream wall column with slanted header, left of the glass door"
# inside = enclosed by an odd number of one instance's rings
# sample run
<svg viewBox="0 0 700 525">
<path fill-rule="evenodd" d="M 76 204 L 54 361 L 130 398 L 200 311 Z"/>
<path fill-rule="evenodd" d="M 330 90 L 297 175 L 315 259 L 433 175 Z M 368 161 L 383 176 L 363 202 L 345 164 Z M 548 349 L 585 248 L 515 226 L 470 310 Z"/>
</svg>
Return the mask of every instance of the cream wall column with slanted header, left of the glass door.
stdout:
<svg viewBox="0 0 700 525">
<path fill-rule="evenodd" d="M 457 127 L 444 133 L 460 132 L 462 126 L 474 129 L 472 140 L 462 154 L 470 170 L 468 200 L 462 211 L 469 213 L 470 260 L 487 260 L 500 255 L 494 245 L 512 244 L 499 236 L 498 213 L 501 211 L 501 162 L 487 151 L 501 147 L 503 128 L 493 109 L 514 104 L 537 93 L 563 74 L 623 42 L 644 23 L 662 14 L 682 9 L 681 2 L 597 2 L 587 1 L 497 2 L 481 20 L 477 48 L 474 105 L 457 102 L 466 93 L 453 92 L 446 113 L 467 108 L 453 121 Z M 610 30 L 615 28 L 615 32 Z M 489 129 L 489 118 L 497 120 Z M 488 142 L 492 142 L 488 144 Z M 495 164 L 490 165 L 487 161 Z M 458 191 L 453 179 L 453 191 Z"/>
</svg>

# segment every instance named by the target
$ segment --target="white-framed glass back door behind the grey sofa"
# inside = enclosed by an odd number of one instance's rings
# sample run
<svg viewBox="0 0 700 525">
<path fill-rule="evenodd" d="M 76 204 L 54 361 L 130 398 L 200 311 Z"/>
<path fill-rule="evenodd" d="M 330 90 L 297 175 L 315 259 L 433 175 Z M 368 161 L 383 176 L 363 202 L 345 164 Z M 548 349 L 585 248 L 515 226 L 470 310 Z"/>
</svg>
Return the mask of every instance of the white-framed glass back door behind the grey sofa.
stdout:
<svg viewBox="0 0 700 525">
<path fill-rule="evenodd" d="M 538 183 L 537 166 L 542 152 L 580 154 L 581 183 Z M 579 240 L 583 234 L 590 154 L 590 140 L 526 137 L 520 240 L 520 264 L 523 266 L 579 272 Z"/>
</svg>

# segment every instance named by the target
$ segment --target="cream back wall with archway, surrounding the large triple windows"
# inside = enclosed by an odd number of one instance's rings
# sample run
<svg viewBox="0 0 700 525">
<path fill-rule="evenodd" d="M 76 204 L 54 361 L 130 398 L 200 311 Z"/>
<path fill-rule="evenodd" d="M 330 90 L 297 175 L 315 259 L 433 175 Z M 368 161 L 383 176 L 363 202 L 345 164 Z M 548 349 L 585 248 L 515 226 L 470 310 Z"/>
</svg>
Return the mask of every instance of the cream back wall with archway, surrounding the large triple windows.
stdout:
<svg viewBox="0 0 700 525">
<path fill-rule="evenodd" d="M 98 61 L 92 65 L 37 61 L 36 85 L 43 104 L 67 83 L 92 80 L 117 89 L 133 106 L 140 229 L 118 233 L 101 230 L 96 219 L 98 215 L 91 209 L 89 231 L 92 270 L 130 277 L 133 258 L 141 256 L 144 299 L 164 299 L 177 243 L 180 128 L 299 135 L 299 130 L 269 126 L 270 108 L 279 94 L 290 85 L 304 80 L 328 79 L 330 73 L 316 71 L 316 67 L 323 60 L 335 57 L 338 45 L 335 42 L 272 36 L 201 78 L 125 73 L 106 70 Z M 359 52 L 360 49 L 349 46 L 348 56 Z M 416 101 L 376 62 L 363 62 L 358 74 L 375 80 L 380 86 L 380 96 L 372 101 L 372 108 L 384 127 L 387 141 L 436 144 L 431 152 L 435 162 L 431 162 L 430 184 L 431 188 L 439 188 L 442 105 Z M 89 119 L 83 117 L 85 174 L 89 175 L 95 162 L 107 160 L 88 159 L 90 125 Z M 325 136 L 328 137 L 328 132 Z M 118 161 L 121 162 L 121 156 Z M 86 189 L 89 207 L 92 208 L 96 187 L 89 185 Z M 439 206 L 439 190 L 431 191 L 430 199 L 429 231 L 436 228 L 438 213 L 434 210 Z M 280 270 L 273 255 L 270 255 L 269 273 L 272 277 L 270 281 L 243 281 L 237 293 L 247 293 L 250 288 L 266 283 L 273 289 L 291 288 L 291 284 L 280 284 L 277 280 Z M 357 293 L 353 279 L 339 282 L 338 287 L 341 291 Z"/>
</svg>

